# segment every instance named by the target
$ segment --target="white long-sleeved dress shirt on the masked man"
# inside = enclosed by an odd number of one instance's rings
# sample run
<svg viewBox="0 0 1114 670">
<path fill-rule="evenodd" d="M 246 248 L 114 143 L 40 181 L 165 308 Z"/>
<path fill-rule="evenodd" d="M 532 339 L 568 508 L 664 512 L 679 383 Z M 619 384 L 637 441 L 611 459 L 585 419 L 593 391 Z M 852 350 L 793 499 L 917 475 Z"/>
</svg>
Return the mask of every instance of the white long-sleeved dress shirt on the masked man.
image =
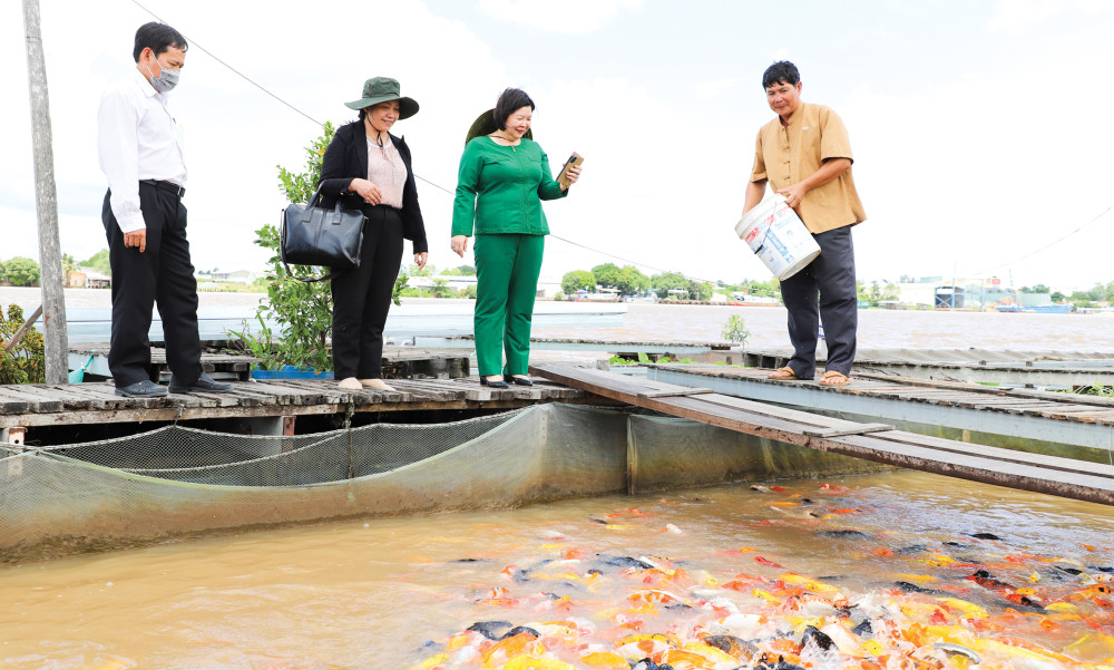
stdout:
<svg viewBox="0 0 1114 670">
<path fill-rule="evenodd" d="M 139 207 L 139 182 L 158 179 L 186 185 L 182 127 L 138 69 L 113 85 L 97 110 L 97 152 L 108 177 L 113 214 L 120 231 L 146 227 Z"/>
</svg>

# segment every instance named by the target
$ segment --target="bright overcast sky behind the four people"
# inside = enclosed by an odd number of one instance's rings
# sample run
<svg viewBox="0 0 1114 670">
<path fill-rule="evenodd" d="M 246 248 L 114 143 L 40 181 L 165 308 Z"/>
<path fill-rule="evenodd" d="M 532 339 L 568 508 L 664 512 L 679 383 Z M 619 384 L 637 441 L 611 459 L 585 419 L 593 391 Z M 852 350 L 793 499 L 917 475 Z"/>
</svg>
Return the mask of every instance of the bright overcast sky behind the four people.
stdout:
<svg viewBox="0 0 1114 670">
<path fill-rule="evenodd" d="M 61 246 L 107 246 L 96 113 L 134 67 L 130 0 L 40 0 Z M 555 171 L 585 156 L 544 276 L 616 262 L 647 274 L 766 279 L 733 232 L 773 60 L 803 99 L 843 118 L 868 220 L 862 280 L 995 273 L 1018 287 L 1114 280 L 1114 2 L 655 0 L 143 0 L 190 41 L 172 109 L 185 128 L 185 203 L 198 269 L 263 268 L 254 231 L 284 205 L 276 165 L 301 169 L 320 127 L 354 118 L 364 79 L 399 79 L 420 113 L 395 125 L 414 172 L 452 191 L 465 133 L 507 86 L 537 104 Z M 0 259 L 38 256 L 20 2 L 0 8 Z M 419 182 L 430 262 L 455 266 L 451 195 Z M 409 245 L 407 249 L 409 253 Z M 1036 253 L 1034 253 L 1036 252 Z M 1033 255 L 1029 255 L 1033 254 Z M 1028 256 L 1028 258 L 1023 258 Z M 471 262 L 471 256 L 466 258 Z"/>
</svg>

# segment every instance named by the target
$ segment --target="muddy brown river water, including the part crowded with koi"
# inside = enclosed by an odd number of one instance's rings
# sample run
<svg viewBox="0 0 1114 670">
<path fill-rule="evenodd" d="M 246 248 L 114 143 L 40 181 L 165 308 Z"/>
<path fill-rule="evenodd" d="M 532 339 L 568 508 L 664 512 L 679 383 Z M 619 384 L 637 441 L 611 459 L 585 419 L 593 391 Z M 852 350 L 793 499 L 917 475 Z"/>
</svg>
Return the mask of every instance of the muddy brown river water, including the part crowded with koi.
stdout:
<svg viewBox="0 0 1114 670">
<path fill-rule="evenodd" d="M 779 308 L 633 304 L 620 328 L 538 334 L 717 340 L 731 314 L 788 344 Z M 860 347 L 1111 351 L 1112 327 L 864 310 Z M 1088 667 L 1114 662 L 1112 574 L 1105 506 L 905 470 L 743 483 L 3 566 L 0 667 Z"/>
</svg>

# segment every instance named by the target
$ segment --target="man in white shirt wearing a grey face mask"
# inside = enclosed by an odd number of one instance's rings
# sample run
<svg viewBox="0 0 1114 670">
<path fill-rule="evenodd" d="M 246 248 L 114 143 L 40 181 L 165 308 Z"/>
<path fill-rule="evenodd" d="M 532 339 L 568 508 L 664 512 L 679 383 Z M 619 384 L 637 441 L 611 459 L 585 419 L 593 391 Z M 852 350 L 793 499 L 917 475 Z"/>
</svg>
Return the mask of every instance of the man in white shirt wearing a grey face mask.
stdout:
<svg viewBox="0 0 1114 670">
<path fill-rule="evenodd" d="M 182 132 L 166 94 L 186 61 L 186 40 L 165 23 L 136 31 L 136 69 L 100 100 L 97 148 L 108 177 L 101 210 L 113 268 L 113 343 L 108 367 L 116 394 L 166 395 L 150 365 L 152 309 L 158 303 L 170 367 L 170 392 L 226 391 L 202 370 L 197 281 L 186 241 L 186 163 Z"/>
</svg>

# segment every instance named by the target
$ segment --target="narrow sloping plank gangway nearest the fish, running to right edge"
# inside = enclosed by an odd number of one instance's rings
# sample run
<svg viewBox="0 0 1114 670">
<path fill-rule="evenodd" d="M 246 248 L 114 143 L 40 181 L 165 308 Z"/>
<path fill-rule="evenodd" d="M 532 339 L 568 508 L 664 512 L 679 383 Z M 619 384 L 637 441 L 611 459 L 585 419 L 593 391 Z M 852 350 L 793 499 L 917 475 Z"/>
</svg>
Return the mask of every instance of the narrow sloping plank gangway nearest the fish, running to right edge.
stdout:
<svg viewBox="0 0 1114 670">
<path fill-rule="evenodd" d="M 739 433 L 961 479 L 1114 505 L 1114 466 L 926 437 L 709 392 L 706 388 L 567 365 L 536 365 L 530 372 L 590 394 Z M 901 389 L 900 385 L 897 389 Z"/>
</svg>

